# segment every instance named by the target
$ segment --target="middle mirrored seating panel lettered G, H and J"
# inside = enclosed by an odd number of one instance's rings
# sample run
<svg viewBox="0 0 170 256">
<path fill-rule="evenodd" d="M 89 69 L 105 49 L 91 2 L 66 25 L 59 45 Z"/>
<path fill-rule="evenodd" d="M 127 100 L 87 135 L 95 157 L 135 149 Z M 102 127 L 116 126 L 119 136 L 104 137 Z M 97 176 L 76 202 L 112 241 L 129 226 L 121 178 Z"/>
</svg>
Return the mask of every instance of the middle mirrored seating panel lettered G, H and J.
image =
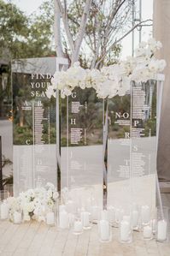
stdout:
<svg viewBox="0 0 170 256">
<path fill-rule="evenodd" d="M 103 205 L 103 100 L 91 88 L 62 99 L 62 189 L 87 210 Z"/>
</svg>

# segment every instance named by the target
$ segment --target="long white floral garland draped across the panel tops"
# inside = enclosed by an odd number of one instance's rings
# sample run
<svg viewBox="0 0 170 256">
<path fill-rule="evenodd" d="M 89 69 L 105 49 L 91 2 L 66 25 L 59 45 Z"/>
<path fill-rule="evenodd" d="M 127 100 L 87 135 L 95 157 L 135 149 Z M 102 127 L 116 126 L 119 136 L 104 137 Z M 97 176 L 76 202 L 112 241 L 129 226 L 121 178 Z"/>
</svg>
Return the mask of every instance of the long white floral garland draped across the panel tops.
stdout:
<svg viewBox="0 0 170 256">
<path fill-rule="evenodd" d="M 134 57 L 126 57 L 114 65 L 103 67 L 101 70 L 84 69 L 79 63 L 67 71 L 57 71 L 51 79 L 46 95 L 56 97 L 56 88 L 61 91 L 61 97 L 71 95 L 75 87 L 94 88 L 98 98 L 112 98 L 116 94 L 124 95 L 129 89 L 132 80 L 146 82 L 155 79 L 166 66 L 165 60 L 155 58 L 155 52 L 161 49 L 161 42 L 149 39 L 141 42 L 135 51 Z"/>
</svg>

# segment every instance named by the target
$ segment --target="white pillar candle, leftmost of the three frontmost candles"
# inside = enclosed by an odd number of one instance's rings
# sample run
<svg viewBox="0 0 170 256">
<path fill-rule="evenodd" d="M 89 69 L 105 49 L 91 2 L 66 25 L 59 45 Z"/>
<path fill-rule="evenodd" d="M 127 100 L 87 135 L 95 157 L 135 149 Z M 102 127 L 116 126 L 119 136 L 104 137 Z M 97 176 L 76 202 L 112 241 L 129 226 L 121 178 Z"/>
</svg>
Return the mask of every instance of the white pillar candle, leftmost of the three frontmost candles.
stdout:
<svg viewBox="0 0 170 256">
<path fill-rule="evenodd" d="M 106 219 L 102 219 L 98 222 L 98 232 L 99 232 L 99 240 L 101 242 L 109 242 L 111 241 L 111 229 L 109 221 Z"/>
</svg>

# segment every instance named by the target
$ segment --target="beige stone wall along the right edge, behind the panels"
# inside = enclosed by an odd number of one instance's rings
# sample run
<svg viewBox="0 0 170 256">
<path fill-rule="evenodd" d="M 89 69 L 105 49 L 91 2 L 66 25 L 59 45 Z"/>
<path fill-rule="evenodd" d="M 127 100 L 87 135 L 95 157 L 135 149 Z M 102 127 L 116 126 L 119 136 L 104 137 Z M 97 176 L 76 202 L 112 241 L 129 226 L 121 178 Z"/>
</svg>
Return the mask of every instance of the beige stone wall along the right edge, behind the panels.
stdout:
<svg viewBox="0 0 170 256">
<path fill-rule="evenodd" d="M 170 181 L 170 1 L 154 0 L 154 37 L 163 47 L 159 58 L 167 62 L 162 98 L 161 127 L 158 148 L 158 175 Z"/>
</svg>

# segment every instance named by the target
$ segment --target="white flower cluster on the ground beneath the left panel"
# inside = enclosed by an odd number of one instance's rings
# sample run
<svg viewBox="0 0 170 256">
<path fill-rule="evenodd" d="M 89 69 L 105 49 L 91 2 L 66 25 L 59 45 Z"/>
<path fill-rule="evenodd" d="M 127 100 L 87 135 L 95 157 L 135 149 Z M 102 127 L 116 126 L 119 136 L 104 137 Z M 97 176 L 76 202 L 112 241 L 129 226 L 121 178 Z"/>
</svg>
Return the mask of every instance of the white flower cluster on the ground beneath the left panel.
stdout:
<svg viewBox="0 0 170 256">
<path fill-rule="evenodd" d="M 9 206 L 9 219 L 13 221 L 14 212 L 21 211 L 24 221 L 45 221 L 47 212 L 53 210 L 58 196 L 55 186 L 48 182 L 45 188 L 28 189 L 17 198 L 9 197 L 6 200 Z"/>
</svg>

